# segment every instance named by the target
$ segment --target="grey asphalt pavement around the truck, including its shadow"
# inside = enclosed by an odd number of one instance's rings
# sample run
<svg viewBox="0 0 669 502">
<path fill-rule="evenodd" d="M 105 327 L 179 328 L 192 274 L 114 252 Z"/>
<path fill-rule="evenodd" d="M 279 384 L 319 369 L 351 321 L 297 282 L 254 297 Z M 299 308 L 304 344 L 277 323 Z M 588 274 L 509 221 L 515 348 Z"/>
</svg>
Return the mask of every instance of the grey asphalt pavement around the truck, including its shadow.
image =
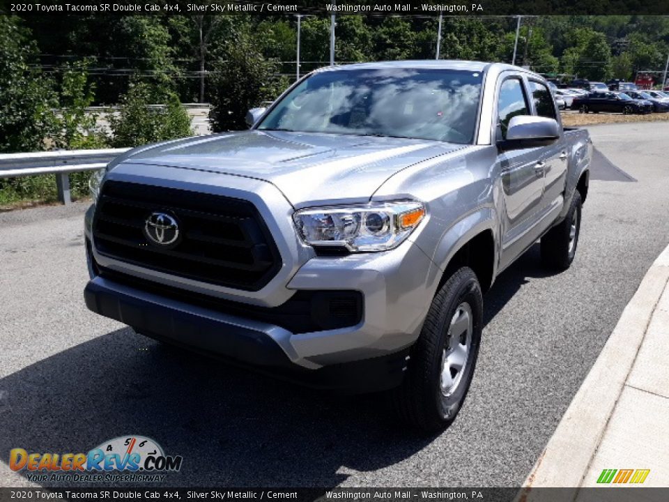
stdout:
<svg viewBox="0 0 669 502">
<path fill-rule="evenodd" d="M 162 347 L 86 310 L 85 204 L 0 214 L 0 485 L 11 448 L 86 452 L 139 434 L 182 455 L 165 486 L 518 486 L 669 242 L 669 123 L 590 128 L 576 261 L 535 245 L 486 296 L 466 404 L 436 437 L 381 396 L 317 393 Z M 46 483 L 49 485 L 49 483 Z"/>
</svg>

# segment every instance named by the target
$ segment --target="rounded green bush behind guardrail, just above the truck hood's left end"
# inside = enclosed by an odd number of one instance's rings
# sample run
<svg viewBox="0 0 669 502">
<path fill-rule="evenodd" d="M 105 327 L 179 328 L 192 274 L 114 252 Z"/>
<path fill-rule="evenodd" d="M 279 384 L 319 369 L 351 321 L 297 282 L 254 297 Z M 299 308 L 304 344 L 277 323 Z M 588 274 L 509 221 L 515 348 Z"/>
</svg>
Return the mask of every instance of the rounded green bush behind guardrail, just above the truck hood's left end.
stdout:
<svg viewBox="0 0 669 502">
<path fill-rule="evenodd" d="M 121 98 L 118 116 L 109 116 L 112 146 L 139 146 L 193 135 L 190 117 L 176 94 L 169 95 L 160 109 L 148 107 L 150 101 L 150 86 L 137 82 L 130 85 Z"/>
</svg>

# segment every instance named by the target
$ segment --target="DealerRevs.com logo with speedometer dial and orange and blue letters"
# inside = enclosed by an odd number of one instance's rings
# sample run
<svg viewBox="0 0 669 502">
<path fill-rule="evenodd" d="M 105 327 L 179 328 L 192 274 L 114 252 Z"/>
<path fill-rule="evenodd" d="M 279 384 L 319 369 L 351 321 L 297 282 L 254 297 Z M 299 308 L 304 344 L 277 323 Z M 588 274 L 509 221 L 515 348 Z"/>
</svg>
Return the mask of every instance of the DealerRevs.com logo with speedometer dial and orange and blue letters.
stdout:
<svg viewBox="0 0 669 502">
<path fill-rule="evenodd" d="M 88 453 L 36 453 L 13 448 L 9 466 L 26 470 L 33 482 L 163 481 L 181 469 L 180 455 L 165 455 L 162 447 L 144 436 L 121 436 Z"/>
</svg>

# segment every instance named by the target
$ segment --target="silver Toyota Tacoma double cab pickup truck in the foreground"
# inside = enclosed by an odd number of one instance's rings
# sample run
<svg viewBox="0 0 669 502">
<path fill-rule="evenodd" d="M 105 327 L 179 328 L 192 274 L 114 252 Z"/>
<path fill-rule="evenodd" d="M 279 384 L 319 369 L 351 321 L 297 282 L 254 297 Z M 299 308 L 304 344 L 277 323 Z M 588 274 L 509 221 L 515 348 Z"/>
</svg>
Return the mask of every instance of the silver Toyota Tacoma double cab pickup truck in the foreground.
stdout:
<svg viewBox="0 0 669 502">
<path fill-rule="evenodd" d="M 93 177 L 86 305 L 446 427 L 495 277 L 539 239 L 546 266 L 574 259 L 587 132 L 535 73 L 468 61 L 325 68 L 247 119 Z"/>
</svg>

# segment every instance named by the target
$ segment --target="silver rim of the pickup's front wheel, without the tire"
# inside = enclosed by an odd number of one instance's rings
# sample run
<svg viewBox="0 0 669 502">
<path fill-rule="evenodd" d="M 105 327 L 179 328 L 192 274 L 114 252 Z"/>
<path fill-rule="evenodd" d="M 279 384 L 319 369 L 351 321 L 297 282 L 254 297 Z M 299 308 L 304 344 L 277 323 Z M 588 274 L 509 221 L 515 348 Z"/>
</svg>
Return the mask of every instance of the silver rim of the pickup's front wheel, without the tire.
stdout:
<svg viewBox="0 0 669 502">
<path fill-rule="evenodd" d="M 472 349 L 473 317 L 468 303 L 456 309 L 441 358 L 441 393 L 448 397 L 459 387 Z"/>
</svg>

